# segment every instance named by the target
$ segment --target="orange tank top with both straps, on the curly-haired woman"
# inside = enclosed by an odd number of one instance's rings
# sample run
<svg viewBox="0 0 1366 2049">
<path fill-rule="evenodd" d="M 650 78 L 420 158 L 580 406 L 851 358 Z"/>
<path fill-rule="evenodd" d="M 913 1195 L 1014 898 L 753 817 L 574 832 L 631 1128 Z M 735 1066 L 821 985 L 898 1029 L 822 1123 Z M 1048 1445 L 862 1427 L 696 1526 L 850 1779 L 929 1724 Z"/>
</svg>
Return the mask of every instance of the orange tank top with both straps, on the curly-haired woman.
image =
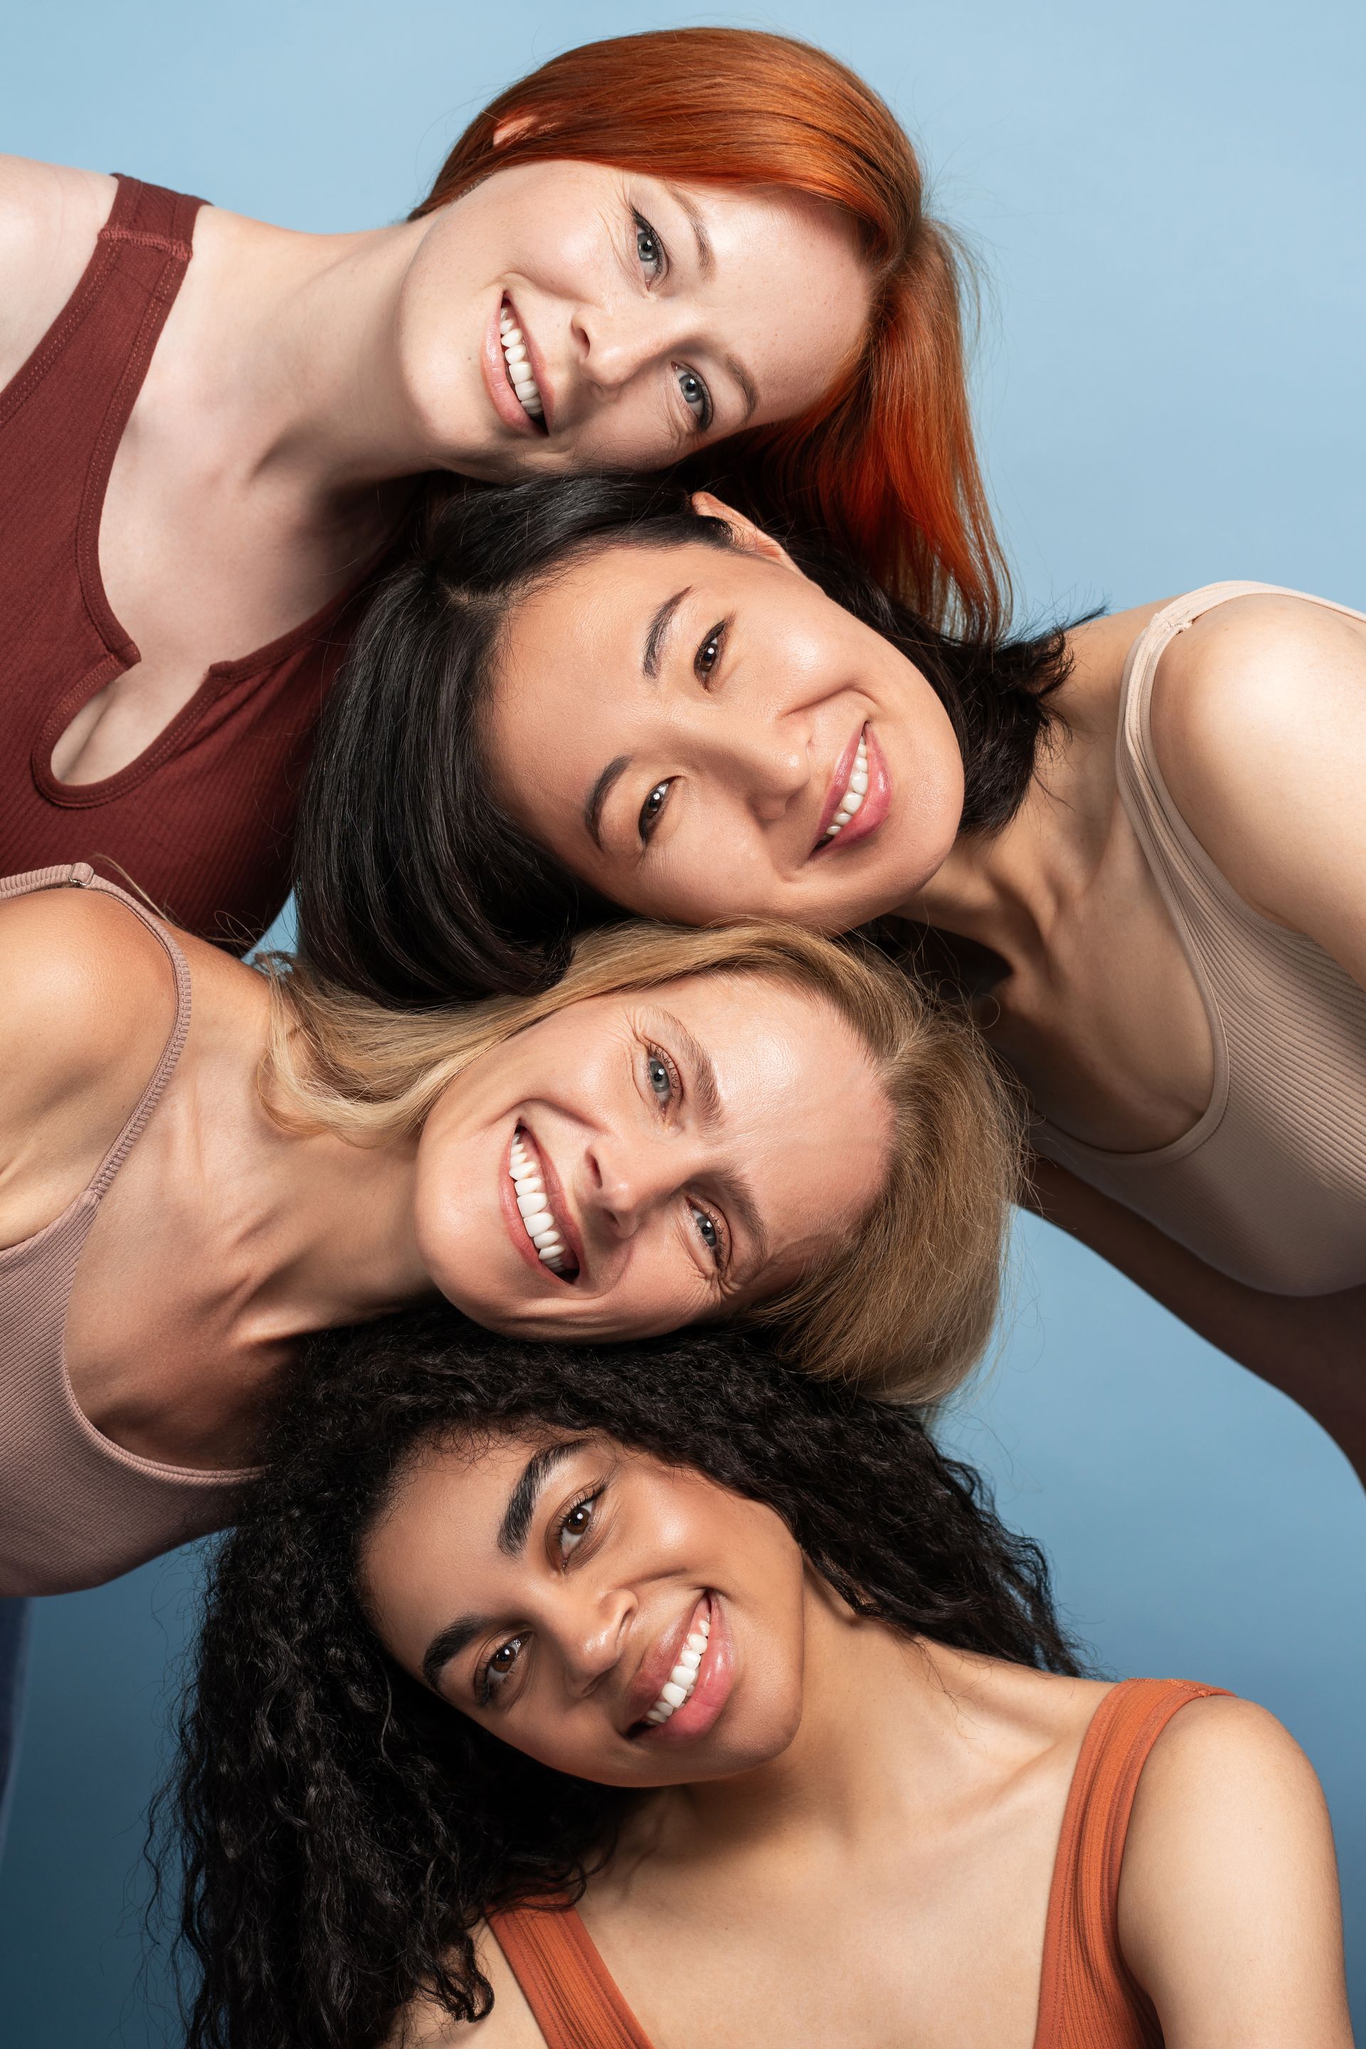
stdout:
<svg viewBox="0 0 1366 2049">
<path fill-rule="evenodd" d="M 1053 1867 L 1034 2049 L 1161 2049 L 1153 2004 L 1120 1955 L 1120 1860 L 1153 1744 L 1188 1701 L 1219 1692 L 1184 1678 L 1128 1678 L 1096 1709 Z M 547 2049 L 651 2049 L 567 1901 L 487 1920 Z"/>
</svg>

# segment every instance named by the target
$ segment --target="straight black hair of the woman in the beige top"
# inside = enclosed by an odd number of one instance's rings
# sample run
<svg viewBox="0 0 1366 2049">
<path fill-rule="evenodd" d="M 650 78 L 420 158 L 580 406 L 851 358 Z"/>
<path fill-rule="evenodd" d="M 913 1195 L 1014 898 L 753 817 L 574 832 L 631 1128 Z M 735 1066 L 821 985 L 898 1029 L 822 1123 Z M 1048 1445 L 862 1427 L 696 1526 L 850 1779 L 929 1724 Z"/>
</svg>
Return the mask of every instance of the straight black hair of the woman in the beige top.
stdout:
<svg viewBox="0 0 1366 2049">
<path fill-rule="evenodd" d="M 1053 719 L 1063 631 L 952 639 L 827 545 L 782 539 L 813 582 L 930 680 L 963 752 L 963 830 L 999 830 Z M 324 707 L 295 842 L 309 967 L 399 1008 L 520 996 L 563 973 L 575 932 L 625 916 L 502 811 L 485 707 L 504 623 L 530 588 L 590 549 L 688 543 L 737 545 L 676 484 L 588 475 L 430 488 Z"/>
</svg>

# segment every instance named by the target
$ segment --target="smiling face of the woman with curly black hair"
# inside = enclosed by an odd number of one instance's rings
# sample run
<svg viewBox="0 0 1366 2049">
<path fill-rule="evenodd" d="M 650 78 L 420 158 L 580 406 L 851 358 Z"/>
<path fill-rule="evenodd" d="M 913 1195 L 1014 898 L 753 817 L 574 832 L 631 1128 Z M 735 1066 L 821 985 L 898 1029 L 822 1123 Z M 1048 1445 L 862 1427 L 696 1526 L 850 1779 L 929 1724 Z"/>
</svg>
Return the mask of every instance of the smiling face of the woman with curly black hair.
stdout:
<svg viewBox="0 0 1366 2049">
<path fill-rule="evenodd" d="M 809 1582 L 786 1524 L 612 1440 L 422 1453 L 362 1588 L 401 1666 L 575 1779 L 723 1779 L 797 1736 Z"/>
</svg>

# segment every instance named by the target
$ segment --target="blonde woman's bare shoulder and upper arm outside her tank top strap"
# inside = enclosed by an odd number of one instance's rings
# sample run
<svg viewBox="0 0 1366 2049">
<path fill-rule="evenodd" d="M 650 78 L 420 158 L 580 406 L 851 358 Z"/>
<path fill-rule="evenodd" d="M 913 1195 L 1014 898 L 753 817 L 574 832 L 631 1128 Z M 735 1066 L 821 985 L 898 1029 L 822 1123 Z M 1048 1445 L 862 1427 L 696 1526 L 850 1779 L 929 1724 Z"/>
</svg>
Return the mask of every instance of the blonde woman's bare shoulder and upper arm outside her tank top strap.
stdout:
<svg viewBox="0 0 1366 2049">
<path fill-rule="evenodd" d="M 162 943 L 84 889 L 0 904 L 0 1244 L 41 1229 L 96 1172 L 176 1016 Z"/>
</svg>

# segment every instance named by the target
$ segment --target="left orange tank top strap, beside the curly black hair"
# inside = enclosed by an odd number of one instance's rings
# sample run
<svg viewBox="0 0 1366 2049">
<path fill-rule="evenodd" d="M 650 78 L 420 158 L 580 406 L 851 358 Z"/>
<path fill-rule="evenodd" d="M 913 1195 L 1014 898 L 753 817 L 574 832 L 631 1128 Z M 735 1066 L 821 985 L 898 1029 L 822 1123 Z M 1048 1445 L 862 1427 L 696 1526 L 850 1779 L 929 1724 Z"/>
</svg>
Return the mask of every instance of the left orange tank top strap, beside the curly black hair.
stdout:
<svg viewBox="0 0 1366 2049">
<path fill-rule="evenodd" d="M 487 1924 L 547 2049 L 651 2049 L 567 1899 L 506 1908 Z"/>
</svg>

